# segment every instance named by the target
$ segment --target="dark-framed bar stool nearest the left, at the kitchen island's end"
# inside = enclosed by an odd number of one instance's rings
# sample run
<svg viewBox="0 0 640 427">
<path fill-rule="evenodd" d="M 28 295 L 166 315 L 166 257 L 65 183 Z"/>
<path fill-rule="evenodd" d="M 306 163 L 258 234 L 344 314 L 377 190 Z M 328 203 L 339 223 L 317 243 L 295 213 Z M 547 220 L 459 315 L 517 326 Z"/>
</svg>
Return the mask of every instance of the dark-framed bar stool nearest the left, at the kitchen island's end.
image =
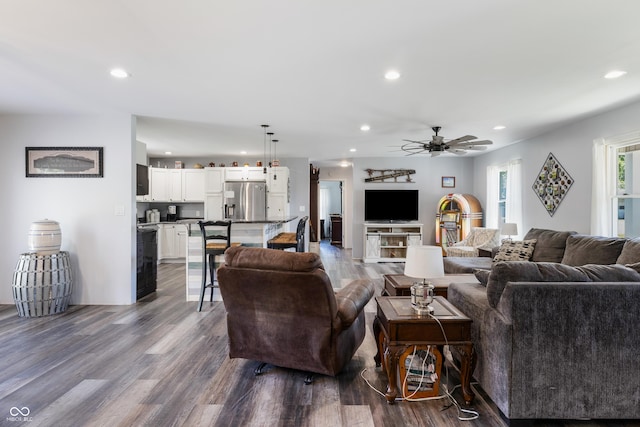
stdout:
<svg viewBox="0 0 640 427">
<path fill-rule="evenodd" d="M 202 287 L 200 289 L 200 301 L 198 311 L 202 311 L 204 293 L 207 288 L 211 288 L 211 298 L 213 301 L 213 289 L 218 285 L 216 279 L 216 256 L 224 255 L 224 251 L 230 246 L 239 246 L 240 243 L 231 243 L 231 221 L 198 221 L 200 233 L 202 234 Z M 211 283 L 207 284 L 207 263 L 209 264 L 209 275 Z"/>
</svg>

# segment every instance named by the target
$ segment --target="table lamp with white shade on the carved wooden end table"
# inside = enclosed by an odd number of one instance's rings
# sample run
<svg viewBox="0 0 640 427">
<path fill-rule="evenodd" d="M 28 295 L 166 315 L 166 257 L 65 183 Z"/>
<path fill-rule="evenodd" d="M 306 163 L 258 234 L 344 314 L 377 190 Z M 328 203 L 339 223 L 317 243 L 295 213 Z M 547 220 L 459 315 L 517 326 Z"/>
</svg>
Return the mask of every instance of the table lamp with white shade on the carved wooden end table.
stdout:
<svg viewBox="0 0 640 427">
<path fill-rule="evenodd" d="M 442 248 L 439 246 L 407 246 L 407 259 L 404 264 L 404 275 L 422 279 L 411 286 L 411 306 L 420 315 L 433 314 L 435 287 L 427 281 L 444 276 Z"/>
</svg>

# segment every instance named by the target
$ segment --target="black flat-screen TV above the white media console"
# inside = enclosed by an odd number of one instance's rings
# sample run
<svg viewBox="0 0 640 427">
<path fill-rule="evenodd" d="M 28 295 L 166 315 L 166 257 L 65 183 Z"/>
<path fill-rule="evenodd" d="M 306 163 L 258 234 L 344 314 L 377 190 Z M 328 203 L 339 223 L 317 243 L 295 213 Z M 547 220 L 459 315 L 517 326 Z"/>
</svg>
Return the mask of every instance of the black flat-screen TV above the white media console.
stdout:
<svg viewBox="0 0 640 427">
<path fill-rule="evenodd" d="M 364 220 L 417 221 L 418 190 L 364 190 Z"/>
</svg>

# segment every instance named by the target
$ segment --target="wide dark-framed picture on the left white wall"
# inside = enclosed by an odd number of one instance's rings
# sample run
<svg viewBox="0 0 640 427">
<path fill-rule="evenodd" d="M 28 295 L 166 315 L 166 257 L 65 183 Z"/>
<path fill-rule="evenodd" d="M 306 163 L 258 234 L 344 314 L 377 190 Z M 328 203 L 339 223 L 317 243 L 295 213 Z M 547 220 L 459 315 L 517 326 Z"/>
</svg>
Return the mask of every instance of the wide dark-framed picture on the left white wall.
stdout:
<svg viewBox="0 0 640 427">
<path fill-rule="evenodd" d="M 26 147 L 27 178 L 104 176 L 103 147 Z"/>
</svg>

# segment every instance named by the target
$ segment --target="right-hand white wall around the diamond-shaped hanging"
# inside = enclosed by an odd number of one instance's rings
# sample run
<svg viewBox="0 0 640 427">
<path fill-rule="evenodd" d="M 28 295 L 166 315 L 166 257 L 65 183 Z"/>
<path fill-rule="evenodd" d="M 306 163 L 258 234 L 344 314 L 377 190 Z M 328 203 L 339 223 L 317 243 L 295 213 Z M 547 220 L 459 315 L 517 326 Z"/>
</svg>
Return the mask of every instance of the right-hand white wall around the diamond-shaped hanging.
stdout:
<svg viewBox="0 0 640 427">
<path fill-rule="evenodd" d="M 597 138 L 610 138 L 638 131 L 639 117 L 640 102 L 637 102 L 475 157 L 473 192 L 484 207 L 487 166 L 521 158 L 523 160 L 524 224 L 518 224 L 520 234 L 526 234 L 532 227 L 589 233 L 593 141 Z M 549 215 L 532 189 L 533 182 L 549 153 L 553 153 L 574 179 L 573 186 L 553 217 Z"/>
</svg>

